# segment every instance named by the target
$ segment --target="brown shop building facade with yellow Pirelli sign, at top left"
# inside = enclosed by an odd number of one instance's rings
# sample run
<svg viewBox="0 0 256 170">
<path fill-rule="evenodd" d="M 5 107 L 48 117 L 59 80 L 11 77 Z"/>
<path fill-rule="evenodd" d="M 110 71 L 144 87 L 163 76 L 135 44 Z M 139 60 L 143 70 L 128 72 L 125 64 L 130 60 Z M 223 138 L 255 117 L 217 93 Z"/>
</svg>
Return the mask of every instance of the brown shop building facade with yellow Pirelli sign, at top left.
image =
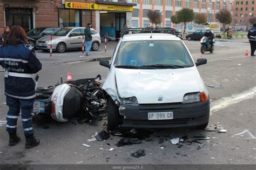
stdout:
<svg viewBox="0 0 256 170">
<path fill-rule="evenodd" d="M 132 1 L 90 0 L 2 0 L 0 1 L 0 33 L 4 26 L 20 25 L 25 31 L 38 27 L 86 26 L 101 36 L 118 38 L 125 24 L 132 21 Z"/>
</svg>

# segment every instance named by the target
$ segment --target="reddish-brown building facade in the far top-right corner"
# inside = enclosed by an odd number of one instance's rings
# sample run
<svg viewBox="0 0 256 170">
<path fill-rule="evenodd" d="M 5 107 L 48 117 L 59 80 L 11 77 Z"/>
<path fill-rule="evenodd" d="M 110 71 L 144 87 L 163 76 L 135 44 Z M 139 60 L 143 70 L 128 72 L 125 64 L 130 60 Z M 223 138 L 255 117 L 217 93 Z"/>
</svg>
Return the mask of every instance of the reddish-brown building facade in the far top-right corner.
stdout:
<svg viewBox="0 0 256 170">
<path fill-rule="evenodd" d="M 234 0 L 232 15 L 233 27 L 246 30 L 249 26 L 252 26 L 249 19 L 256 16 L 255 10 L 255 0 Z"/>
</svg>

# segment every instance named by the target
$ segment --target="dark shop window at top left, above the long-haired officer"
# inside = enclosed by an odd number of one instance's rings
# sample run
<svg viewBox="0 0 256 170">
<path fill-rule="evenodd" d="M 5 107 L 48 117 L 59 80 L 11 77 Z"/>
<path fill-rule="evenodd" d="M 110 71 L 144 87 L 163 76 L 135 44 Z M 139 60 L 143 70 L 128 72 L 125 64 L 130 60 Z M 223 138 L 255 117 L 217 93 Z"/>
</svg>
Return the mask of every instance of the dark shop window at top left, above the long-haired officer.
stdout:
<svg viewBox="0 0 256 170">
<path fill-rule="evenodd" d="M 33 15 L 31 8 L 5 8 L 5 25 L 19 25 L 25 31 L 33 29 Z"/>
</svg>

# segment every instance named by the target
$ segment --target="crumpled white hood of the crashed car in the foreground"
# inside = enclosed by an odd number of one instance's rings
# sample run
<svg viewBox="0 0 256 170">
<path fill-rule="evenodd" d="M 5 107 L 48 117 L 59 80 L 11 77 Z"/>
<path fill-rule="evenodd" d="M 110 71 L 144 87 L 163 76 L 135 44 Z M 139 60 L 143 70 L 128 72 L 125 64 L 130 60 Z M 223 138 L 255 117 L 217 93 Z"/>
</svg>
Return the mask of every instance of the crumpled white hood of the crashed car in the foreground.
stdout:
<svg viewBox="0 0 256 170">
<path fill-rule="evenodd" d="M 118 101 L 119 98 L 135 96 L 139 104 L 176 103 L 182 102 L 186 93 L 202 91 L 203 81 L 200 81 L 195 66 L 185 69 L 111 70 L 103 89 Z"/>
</svg>

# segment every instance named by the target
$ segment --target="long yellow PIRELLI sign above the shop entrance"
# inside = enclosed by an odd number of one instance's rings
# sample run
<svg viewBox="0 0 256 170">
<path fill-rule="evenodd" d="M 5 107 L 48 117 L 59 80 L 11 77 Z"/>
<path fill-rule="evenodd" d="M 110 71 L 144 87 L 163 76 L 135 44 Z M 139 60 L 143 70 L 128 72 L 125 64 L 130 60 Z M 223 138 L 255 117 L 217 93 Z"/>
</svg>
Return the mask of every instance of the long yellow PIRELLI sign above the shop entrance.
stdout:
<svg viewBox="0 0 256 170">
<path fill-rule="evenodd" d="M 126 11 L 132 12 L 132 6 L 124 5 L 109 5 L 109 4 L 93 4 L 80 2 L 65 2 L 66 9 L 90 9 L 90 10 L 104 10 L 104 11 Z"/>
</svg>

